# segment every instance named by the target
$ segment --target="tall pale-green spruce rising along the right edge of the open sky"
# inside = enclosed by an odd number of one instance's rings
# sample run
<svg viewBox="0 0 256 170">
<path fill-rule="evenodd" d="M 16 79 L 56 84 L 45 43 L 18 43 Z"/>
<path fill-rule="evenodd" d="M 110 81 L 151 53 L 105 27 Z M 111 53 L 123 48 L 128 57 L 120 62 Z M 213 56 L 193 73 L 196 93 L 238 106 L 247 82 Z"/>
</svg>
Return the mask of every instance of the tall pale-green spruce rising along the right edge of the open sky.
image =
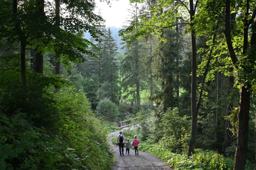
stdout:
<svg viewBox="0 0 256 170">
<path fill-rule="evenodd" d="M 137 29 L 139 8 L 137 4 L 133 6 L 133 10 L 130 10 L 132 20 L 130 26 L 132 26 L 132 33 L 123 35 L 123 40 L 126 42 L 124 48 L 126 49 L 125 57 L 123 60 L 123 81 L 122 85 L 124 91 L 127 91 L 125 98 L 132 96 L 132 100 L 136 101 L 138 109 L 140 109 L 140 92 L 142 90 L 142 84 L 147 81 L 146 66 L 143 64 L 144 56 L 148 56 L 148 49 L 145 42 L 142 40 L 130 40 L 129 34 L 133 34 Z M 134 24 L 135 23 L 135 24 Z M 122 32 L 122 31 L 121 31 Z M 122 33 L 121 33 L 122 34 Z"/>
</svg>

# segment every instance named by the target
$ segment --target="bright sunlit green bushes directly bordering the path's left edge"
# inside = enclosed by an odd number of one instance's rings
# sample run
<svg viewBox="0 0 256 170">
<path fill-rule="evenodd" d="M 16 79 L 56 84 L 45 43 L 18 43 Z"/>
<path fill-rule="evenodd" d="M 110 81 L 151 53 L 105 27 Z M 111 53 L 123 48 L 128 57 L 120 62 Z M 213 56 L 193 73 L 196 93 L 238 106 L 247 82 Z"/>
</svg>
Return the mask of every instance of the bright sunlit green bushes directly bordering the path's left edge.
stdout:
<svg viewBox="0 0 256 170">
<path fill-rule="evenodd" d="M 107 169 L 111 167 L 111 153 L 107 129 L 92 114 L 90 103 L 82 90 L 69 88 L 56 95 L 59 112 L 59 134 L 63 159 L 58 169 Z M 68 164 L 63 164 L 67 162 Z"/>
</svg>

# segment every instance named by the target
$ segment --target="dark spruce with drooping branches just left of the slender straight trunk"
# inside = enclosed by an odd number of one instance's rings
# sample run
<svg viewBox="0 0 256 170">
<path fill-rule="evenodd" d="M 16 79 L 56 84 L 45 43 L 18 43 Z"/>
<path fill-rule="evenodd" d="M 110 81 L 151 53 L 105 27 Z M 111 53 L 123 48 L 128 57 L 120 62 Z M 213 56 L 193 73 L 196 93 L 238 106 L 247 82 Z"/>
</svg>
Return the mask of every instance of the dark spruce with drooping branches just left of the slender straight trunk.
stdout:
<svg viewBox="0 0 256 170">
<path fill-rule="evenodd" d="M 156 62 L 156 75 L 164 82 L 162 84 L 162 90 L 156 94 L 153 99 L 158 102 L 162 102 L 164 110 L 169 107 L 174 107 L 177 104 L 177 93 L 175 95 L 174 89 L 179 89 L 179 81 L 175 80 L 175 74 L 179 71 L 179 63 L 177 64 L 177 58 L 179 60 L 180 55 L 178 53 L 181 48 L 182 41 L 177 43 L 177 37 L 179 33 L 175 33 L 172 30 L 165 30 L 162 34 L 163 38 L 167 40 L 166 43 L 160 43 L 155 49 L 154 60 Z M 163 62 L 160 62 L 163 61 Z"/>
</svg>

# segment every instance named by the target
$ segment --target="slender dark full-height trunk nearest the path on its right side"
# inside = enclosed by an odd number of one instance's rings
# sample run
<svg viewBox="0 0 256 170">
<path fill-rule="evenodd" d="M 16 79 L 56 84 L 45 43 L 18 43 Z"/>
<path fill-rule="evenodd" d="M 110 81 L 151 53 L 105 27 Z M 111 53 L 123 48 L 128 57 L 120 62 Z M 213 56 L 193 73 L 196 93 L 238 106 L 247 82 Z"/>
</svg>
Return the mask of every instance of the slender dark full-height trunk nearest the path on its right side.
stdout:
<svg viewBox="0 0 256 170">
<path fill-rule="evenodd" d="M 188 157 L 194 151 L 197 141 L 197 47 L 196 47 L 196 33 L 194 31 L 193 16 L 195 14 L 194 2 L 190 0 L 190 21 L 191 21 L 191 44 L 192 44 L 192 57 L 191 57 L 191 136 L 188 145 Z"/>
</svg>

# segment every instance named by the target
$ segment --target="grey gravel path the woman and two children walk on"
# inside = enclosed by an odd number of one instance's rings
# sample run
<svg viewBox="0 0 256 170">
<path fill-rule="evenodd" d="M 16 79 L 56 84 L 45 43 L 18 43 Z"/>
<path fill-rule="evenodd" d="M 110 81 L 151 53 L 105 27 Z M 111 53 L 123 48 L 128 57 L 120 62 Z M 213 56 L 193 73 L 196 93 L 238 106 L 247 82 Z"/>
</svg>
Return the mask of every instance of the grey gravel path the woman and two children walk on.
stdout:
<svg viewBox="0 0 256 170">
<path fill-rule="evenodd" d="M 119 147 L 112 144 L 113 137 L 117 135 L 119 135 L 119 131 L 108 134 L 109 144 L 115 156 L 113 170 L 171 170 L 166 162 L 161 161 L 149 153 L 140 151 L 140 145 L 138 156 L 135 156 L 133 149 L 130 149 L 130 155 L 124 153 L 124 156 L 120 156 Z"/>
</svg>

